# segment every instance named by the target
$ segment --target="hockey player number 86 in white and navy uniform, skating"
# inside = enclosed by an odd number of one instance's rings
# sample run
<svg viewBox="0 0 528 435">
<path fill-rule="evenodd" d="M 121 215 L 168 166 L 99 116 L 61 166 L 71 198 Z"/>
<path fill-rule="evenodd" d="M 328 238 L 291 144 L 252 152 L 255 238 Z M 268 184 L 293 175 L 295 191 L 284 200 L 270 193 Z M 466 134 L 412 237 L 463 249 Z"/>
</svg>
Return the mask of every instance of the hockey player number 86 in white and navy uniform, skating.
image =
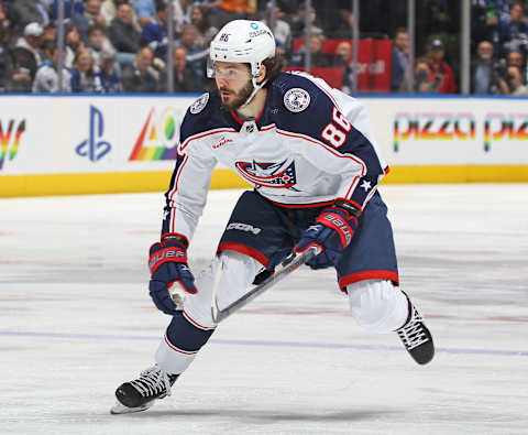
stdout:
<svg viewBox="0 0 528 435">
<path fill-rule="evenodd" d="M 387 166 L 364 108 L 319 78 L 282 73 L 273 34 L 261 22 L 226 24 L 210 61 L 217 90 L 199 97 L 182 122 L 162 237 L 150 250 L 150 294 L 172 320 L 156 363 L 117 389 L 112 413 L 143 411 L 170 394 L 217 327 L 213 286 L 224 307 L 292 250 L 314 244 L 322 252 L 308 264 L 336 268 L 358 324 L 396 331 L 418 363 L 429 362 L 432 337 L 398 287 L 393 232 L 376 189 Z M 217 162 L 254 189 L 241 195 L 216 258 L 195 280 L 187 248 Z M 187 293 L 183 307 L 169 294 L 175 285 Z"/>
</svg>

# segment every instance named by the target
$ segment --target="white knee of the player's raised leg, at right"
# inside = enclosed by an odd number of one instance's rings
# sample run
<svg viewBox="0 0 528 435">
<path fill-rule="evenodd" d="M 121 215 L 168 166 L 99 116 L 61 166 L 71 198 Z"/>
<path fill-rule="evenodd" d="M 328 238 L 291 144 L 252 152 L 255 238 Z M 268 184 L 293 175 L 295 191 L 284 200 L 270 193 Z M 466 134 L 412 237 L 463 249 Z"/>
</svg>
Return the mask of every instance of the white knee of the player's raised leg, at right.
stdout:
<svg viewBox="0 0 528 435">
<path fill-rule="evenodd" d="M 366 330 L 396 330 L 408 317 L 407 296 L 391 281 L 360 281 L 348 285 L 346 291 L 352 316 Z"/>
</svg>

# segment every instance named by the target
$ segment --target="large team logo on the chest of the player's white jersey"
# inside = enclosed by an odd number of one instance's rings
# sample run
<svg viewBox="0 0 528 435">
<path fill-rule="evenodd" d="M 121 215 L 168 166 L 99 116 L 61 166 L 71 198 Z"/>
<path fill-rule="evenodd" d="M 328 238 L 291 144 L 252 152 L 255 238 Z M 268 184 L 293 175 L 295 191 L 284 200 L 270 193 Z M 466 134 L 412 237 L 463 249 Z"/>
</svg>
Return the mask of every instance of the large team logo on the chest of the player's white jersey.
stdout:
<svg viewBox="0 0 528 435">
<path fill-rule="evenodd" d="M 256 187 L 292 188 L 297 183 L 295 162 L 287 159 L 280 163 L 237 162 L 237 170 Z"/>
</svg>

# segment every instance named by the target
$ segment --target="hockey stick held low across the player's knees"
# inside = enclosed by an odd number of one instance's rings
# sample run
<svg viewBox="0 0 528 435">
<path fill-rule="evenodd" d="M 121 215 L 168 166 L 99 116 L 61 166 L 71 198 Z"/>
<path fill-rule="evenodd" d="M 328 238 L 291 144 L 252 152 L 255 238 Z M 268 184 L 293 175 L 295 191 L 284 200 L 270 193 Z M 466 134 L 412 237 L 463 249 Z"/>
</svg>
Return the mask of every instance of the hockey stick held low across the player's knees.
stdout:
<svg viewBox="0 0 528 435">
<path fill-rule="evenodd" d="M 256 296 L 264 293 L 272 285 L 275 285 L 277 282 L 289 275 L 300 265 L 305 264 L 307 261 L 310 261 L 314 257 L 321 252 L 321 248 L 318 246 L 312 246 L 301 253 L 292 252 L 286 260 L 284 260 L 279 265 L 278 270 L 275 271 L 273 275 L 266 278 L 262 283 L 255 285 L 242 297 L 239 297 L 237 301 L 229 304 L 226 308 L 220 309 L 217 301 L 217 290 L 218 284 L 220 283 L 222 274 L 222 263 L 220 263 L 218 271 L 215 276 L 215 286 L 212 291 L 212 301 L 211 301 L 211 314 L 212 320 L 218 324 L 222 322 L 226 317 L 233 314 L 235 311 L 242 308 L 248 303 L 253 301 Z"/>
</svg>

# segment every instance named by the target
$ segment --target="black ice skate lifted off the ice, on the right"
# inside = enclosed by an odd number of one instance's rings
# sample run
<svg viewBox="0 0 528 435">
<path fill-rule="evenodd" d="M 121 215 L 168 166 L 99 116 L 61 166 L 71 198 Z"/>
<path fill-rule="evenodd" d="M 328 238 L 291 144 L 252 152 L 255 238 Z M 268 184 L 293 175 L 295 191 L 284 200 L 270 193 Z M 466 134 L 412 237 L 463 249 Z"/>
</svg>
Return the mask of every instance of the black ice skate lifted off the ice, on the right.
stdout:
<svg viewBox="0 0 528 435">
<path fill-rule="evenodd" d="M 408 297 L 407 297 L 408 300 Z M 396 330 L 405 348 L 419 365 L 427 365 L 435 356 L 435 345 L 429 329 L 424 324 L 418 309 L 409 301 L 410 316 L 406 324 Z"/>
</svg>

